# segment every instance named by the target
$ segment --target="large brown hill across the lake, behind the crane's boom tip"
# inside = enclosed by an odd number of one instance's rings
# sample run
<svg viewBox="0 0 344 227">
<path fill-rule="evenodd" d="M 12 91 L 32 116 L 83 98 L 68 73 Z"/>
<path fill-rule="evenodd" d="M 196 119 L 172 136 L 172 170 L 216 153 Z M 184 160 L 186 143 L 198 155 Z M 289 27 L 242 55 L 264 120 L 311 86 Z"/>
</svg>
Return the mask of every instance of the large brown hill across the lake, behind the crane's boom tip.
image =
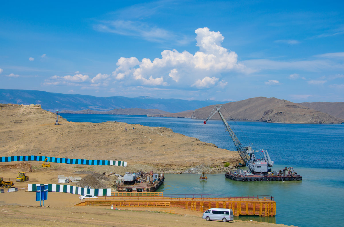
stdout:
<svg viewBox="0 0 344 227">
<path fill-rule="evenodd" d="M 223 105 L 221 112 L 228 119 L 254 120 L 274 123 L 342 123 L 335 118 L 314 109 L 277 98 L 256 97 Z M 196 109 L 195 119 L 206 119 L 215 105 Z M 228 112 L 227 112 L 228 111 Z M 230 116 L 229 116 L 230 115 Z M 212 119 L 220 119 L 216 114 Z"/>
</svg>

